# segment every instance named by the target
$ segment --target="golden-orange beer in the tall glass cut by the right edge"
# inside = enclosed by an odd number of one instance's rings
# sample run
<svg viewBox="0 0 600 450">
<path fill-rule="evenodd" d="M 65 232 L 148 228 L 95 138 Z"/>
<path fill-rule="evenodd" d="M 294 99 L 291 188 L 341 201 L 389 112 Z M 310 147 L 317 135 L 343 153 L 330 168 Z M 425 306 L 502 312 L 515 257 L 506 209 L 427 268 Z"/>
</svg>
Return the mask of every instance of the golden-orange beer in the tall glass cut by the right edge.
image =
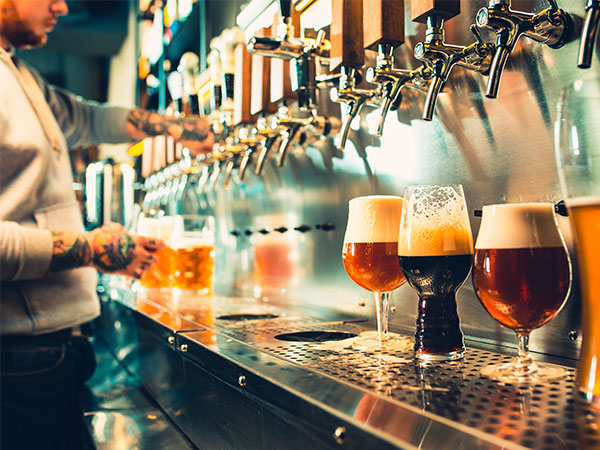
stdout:
<svg viewBox="0 0 600 450">
<path fill-rule="evenodd" d="M 567 205 L 577 240 L 583 298 L 576 385 L 582 399 L 600 406 L 600 197 L 570 199 Z"/>
</svg>

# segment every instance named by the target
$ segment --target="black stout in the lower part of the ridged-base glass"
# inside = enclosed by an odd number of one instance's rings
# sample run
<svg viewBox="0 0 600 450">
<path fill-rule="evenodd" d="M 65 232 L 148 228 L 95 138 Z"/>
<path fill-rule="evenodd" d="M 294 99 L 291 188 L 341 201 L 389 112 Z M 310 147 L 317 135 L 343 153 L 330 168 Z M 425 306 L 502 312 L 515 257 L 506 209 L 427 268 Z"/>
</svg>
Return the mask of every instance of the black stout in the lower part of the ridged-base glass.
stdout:
<svg viewBox="0 0 600 450">
<path fill-rule="evenodd" d="M 399 259 L 406 281 L 419 294 L 415 350 L 424 355 L 462 353 L 456 291 L 469 276 L 472 255 Z"/>
</svg>

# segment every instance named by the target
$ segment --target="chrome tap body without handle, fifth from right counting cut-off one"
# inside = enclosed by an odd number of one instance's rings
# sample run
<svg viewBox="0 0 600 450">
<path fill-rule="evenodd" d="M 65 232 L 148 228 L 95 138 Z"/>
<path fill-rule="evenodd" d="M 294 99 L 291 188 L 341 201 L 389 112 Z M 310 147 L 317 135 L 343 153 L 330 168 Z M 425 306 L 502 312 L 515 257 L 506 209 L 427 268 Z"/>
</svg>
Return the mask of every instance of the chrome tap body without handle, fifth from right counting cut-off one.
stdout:
<svg viewBox="0 0 600 450">
<path fill-rule="evenodd" d="M 342 67 L 339 88 L 333 88 L 330 91 L 331 101 L 346 105 L 346 114 L 340 133 L 340 142 L 337 146 L 338 150 L 344 150 L 344 147 L 346 147 L 346 140 L 348 139 L 350 124 L 360 113 L 363 105 L 369 104 L 376 93 L 377 90 L 375 89 L 357 89 L 356 69 L 353 67 Z"/>
</svg>

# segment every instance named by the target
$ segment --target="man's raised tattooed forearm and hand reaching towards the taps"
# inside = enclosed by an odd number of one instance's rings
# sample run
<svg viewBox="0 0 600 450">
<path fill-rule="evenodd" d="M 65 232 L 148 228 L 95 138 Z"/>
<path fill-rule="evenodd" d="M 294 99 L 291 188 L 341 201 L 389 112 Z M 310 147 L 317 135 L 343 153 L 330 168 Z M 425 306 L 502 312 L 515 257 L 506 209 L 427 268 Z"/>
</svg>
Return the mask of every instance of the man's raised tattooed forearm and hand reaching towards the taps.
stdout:
<svg viewBox="0 0 600 450">
<path fill-rule="evenodd" d="M 212 151 L 214 136 L 208 121 L 199 116 L 168 117 L 134 109 L 127 116 L 127 132 L 133 139 L 168 135 L 189 148 L 192 155 Z"/>
</svg>

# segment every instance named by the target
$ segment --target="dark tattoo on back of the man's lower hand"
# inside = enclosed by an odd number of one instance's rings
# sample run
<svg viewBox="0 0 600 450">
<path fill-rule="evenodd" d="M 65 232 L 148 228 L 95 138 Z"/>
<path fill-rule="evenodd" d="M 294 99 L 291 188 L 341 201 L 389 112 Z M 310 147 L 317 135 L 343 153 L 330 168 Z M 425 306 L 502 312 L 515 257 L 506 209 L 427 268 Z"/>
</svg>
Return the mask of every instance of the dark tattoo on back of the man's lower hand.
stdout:
<svg viewBox="0 0 600 450">
<path fill-rule="evenodd" d="M 134 260 L 135 241 L 127 233 L 98 234 L 92 246 L 94 265 L 104 272 L 123 270 Z"/>
</svg>

